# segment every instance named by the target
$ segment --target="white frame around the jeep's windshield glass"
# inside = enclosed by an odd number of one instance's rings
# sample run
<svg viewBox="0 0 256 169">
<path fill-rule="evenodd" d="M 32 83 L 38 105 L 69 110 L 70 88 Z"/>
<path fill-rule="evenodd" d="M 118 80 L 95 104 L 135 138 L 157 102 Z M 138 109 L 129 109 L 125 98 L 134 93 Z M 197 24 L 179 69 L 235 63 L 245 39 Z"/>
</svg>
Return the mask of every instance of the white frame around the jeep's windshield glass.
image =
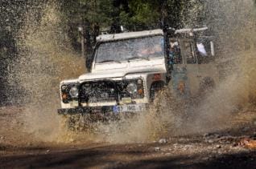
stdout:
<svg viewBox="0 0 256 169">
<path fill-rule="evenodd" d="M 114 61 L 114 62 L 130 62 L 131 60 L 150 60 L 151 58 L 165 58 L 165 40 L 164 40 L 164 36 L 163 34 L 151 34 L 151 35 L 147 35 L 147 36 L 142 36 L 142 37 L 137 37 L 137 38 L 124 38 L 124 39 L 118 39 L 118 40 L 110 40 L 110 41 L 105 41 L 105 42 L 97 42 L 96 43 L 96 46 L 95 46 L 95 50 L 94 50 L 94 58 L 93 58 L 93 64 L 96 65 L 96 64 L 106 64 L 106 63 L 109 63 L 109 62 L 97 62 L 97 52 L 98 52 L 98 48 L 101 44 L 103 43 L 108 43 L 108 42 L 120 42 L 120 41 L 128 41 L 128 40 L 133 40 L 133 39 L 142 39 L 142 38 L 152 38 L 152 37 L 161 37 L 163 38 L 163 44 L 160 44 L 160 47 L 162 48 L 162 55 L 155 55 L 155 56 L 145 56 L 143 58 L 139 58 L 139 56 L 137 55 L 134 55 L 132 57 L 130 57 L 131 59 L 129 58 L 126 58 L 124 60 L 117 60 L 117 61 Z M 133 59 L 134 57 L 138 57 L 138 59 Z"/>
</svg>

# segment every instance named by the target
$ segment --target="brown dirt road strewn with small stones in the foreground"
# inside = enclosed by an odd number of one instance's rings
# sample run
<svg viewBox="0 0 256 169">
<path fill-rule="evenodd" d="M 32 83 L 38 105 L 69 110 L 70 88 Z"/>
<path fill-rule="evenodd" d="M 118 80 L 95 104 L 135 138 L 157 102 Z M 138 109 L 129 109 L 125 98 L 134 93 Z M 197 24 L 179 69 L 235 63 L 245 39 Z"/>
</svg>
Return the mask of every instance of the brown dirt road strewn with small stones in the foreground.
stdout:
<svg viewBox="0 0 256 169">
<path fill-rule="evenodd" d="M 256 137 L 254 111 L 223 131 L 131 144 L 42 142 L 21 130 L 19 113 L 1 108 L 0 168 L 256 168 L 256 151 L 239 145 Z"/>
</svg>

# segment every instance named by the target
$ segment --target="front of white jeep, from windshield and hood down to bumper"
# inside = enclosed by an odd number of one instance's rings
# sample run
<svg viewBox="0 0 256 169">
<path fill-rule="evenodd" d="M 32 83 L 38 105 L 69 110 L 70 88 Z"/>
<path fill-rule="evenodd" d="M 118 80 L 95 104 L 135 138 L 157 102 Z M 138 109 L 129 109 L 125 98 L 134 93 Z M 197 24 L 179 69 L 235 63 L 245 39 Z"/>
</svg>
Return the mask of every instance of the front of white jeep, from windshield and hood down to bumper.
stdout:
<svg viewBox="0 0 256 169">
<path fill-rule="evenodd" d="M 163 30 L 97 37 L 90 73 L 60 82 L 61 115 L 143 111 L 167 83 Z"/>
</svg>

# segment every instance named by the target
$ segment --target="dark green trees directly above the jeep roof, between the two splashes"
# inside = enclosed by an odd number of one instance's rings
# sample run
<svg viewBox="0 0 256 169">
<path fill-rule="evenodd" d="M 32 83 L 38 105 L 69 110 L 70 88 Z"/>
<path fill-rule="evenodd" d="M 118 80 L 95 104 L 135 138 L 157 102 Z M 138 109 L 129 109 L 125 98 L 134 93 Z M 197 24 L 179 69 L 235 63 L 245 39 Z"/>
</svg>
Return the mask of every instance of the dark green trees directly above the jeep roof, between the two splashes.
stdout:
<svg viewBox="0 0 256 169">
<path fill-rule="evenodd" d="M 194 26 L 204 17 L 202 0 L 71 0 L 60 1 L 60 9 L 76 47 L 78 26 L 85 28 L 91 46 L 98 34 L 119 33 L 121 26 L 127 31 L 180 28 Z"/>
</svg>

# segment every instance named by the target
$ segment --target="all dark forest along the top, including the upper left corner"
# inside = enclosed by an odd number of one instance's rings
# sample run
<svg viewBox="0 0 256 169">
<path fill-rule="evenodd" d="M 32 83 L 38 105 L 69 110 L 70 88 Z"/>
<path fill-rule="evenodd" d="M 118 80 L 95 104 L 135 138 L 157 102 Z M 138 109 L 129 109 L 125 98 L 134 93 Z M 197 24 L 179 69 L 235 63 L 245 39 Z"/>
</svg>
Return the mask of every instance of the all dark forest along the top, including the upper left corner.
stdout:
<svg viewBox="0 0 256 169">
<path fill-rule="evenodd" d="M 35 18 L 40 20 L 43 6 L 49 2 L 59 7 L 68 38 L 77 51 L 81 50 L 78 26 L 83 26 L 85 42 L 90 49 L 98 34 L 119 33 L 121 26 L 134 31 L 162 28 L 163 25 L 174 28 L 195 25 L 203 17 L 204 8 L 203 0 L 2 0 L 1 55 L 16 53 L 15 39 L 25 24 L 27 12 L 36 11 Z"/>
</svg>

